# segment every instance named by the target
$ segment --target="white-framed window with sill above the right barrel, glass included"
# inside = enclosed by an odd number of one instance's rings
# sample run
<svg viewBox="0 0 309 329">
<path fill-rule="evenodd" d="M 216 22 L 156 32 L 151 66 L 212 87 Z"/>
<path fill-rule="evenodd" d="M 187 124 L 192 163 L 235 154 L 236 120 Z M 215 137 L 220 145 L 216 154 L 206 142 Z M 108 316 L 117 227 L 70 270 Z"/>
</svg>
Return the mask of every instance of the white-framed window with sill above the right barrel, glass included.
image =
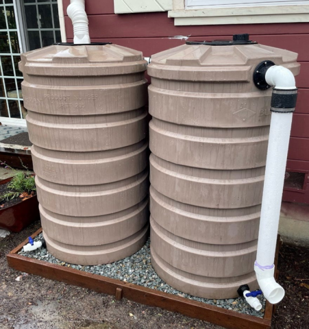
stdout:
<svg viewBox="0 0 309 329">
<path fill-rule="evenodd" d="M 173 0 L 175 25 L 309 22 L 305 0 Z"/>
</svg>

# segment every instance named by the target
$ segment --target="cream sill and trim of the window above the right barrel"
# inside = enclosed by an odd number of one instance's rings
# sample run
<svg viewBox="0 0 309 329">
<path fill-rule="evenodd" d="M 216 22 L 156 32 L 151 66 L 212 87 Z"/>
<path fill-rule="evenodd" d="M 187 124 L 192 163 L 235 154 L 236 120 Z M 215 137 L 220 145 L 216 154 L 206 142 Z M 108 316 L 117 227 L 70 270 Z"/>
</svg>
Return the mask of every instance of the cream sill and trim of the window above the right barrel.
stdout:
<svg viewBox="0 0 309 329">
<path fill-rule="evenodd" d="M 286 5 L 222 5 L 219 8 L 187 9 L 185 0 L 173 0 L 169 17 L 175 25 L 219 25 L 256 23 L 302 23 L 309 22 L 309 1 L 304 4 Z"/>
</svg>

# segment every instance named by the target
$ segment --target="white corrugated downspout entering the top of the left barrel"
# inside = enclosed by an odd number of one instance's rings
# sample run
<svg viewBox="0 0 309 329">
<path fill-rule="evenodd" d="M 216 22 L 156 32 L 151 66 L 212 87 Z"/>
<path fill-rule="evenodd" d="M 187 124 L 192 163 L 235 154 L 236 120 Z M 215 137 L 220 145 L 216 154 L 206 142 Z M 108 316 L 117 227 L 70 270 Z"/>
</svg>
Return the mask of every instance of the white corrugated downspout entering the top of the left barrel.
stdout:
<svg viewBox="0 0 309 329">
<path fill-rule="evenodd" d="M 66 12 L 73 23 L 74 43 L 79 45 L 90 43 L 85 0 L 71 0 Z"/>
</svg>

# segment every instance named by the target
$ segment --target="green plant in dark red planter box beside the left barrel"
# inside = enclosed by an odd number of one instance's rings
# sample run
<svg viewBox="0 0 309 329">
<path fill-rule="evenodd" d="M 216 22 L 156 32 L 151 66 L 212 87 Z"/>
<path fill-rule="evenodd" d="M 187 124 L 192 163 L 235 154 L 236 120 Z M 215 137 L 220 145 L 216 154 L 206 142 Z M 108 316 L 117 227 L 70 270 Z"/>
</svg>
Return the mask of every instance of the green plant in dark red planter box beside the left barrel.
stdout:
<svg viewBox="0 0 309 329">
<path fill-rule="evenodd" d="M 0 228 L 20 232 L 40 218 L 34 176 L 29 170 L 17 171 L 14 177 L 0 181 Z"/>
</svg>

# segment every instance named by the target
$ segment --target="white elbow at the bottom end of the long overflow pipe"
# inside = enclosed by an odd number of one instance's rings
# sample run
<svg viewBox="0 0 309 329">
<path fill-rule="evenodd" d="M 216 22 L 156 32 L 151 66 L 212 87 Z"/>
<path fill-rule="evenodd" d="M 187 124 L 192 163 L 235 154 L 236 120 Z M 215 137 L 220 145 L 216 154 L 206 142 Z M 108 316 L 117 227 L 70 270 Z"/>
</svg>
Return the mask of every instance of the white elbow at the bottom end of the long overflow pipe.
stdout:
<svg viewBox="0 0 309 329">
<path fill-rule="evenodd" d="M 258 266 L 254 266 L 256 271 L 256 278 L 258 284 L 263 292 L 264 297 L 271 303 L 277 304 L 282 301 L 284 297 L 284 289 L 275 282 L 275 266 L 272 269 L 260 269 Z"/>
</svg>

